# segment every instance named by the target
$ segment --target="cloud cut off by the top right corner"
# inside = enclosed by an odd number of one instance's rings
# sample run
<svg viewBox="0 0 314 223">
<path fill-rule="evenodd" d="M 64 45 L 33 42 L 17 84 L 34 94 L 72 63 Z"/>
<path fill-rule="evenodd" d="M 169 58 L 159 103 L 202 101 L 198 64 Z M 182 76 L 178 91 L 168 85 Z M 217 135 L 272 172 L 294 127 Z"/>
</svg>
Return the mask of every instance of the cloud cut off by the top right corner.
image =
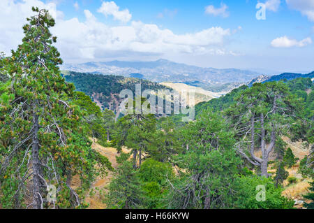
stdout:
<svg viewBox="0 0 314 223">
<path fill-rule="evenodd" d="M 299 10 L 308 20 L 314 22 L 314 0 L 285 0 L 287 6 L 294 10 Z"/>
</svg>

